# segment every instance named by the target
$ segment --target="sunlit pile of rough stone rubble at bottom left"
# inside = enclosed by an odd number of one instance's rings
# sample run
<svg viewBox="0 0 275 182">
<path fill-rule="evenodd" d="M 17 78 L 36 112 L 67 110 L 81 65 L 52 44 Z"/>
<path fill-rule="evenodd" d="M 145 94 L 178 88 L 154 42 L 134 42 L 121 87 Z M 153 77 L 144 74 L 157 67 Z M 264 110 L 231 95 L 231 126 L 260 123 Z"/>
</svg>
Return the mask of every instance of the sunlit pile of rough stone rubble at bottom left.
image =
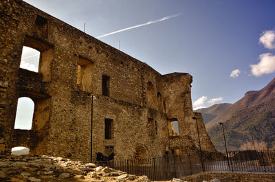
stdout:
<svg viewBox="0 0 275 182">
<path fill-rule="evenodd" d="M 146 176 L 137 177 L 126 172 L 94 163 L 72 161 L 62 157 L 45 155 L 0 156 L 0 181 L 144 181 Z"/>
</svg>

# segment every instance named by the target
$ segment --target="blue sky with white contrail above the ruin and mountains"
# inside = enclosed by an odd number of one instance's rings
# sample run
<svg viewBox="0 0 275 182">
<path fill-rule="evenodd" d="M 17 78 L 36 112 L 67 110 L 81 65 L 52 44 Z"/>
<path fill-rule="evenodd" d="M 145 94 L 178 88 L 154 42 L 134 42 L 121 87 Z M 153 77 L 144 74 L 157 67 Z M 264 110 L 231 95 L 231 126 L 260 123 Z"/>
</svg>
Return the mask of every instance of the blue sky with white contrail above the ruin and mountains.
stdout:
<svg viewBox="0 0 275 182">
<path fill-rule="evenodd" d="M 190 73 L 196 108 L 234 103 L 275 76 L 273 0 L 25 1 L 79 30 L 86 23 L 94 37 L 180 14 L 99 39 L 116 48 L 120 41 L 122 52 L 159 73 Z"/>
</svg>

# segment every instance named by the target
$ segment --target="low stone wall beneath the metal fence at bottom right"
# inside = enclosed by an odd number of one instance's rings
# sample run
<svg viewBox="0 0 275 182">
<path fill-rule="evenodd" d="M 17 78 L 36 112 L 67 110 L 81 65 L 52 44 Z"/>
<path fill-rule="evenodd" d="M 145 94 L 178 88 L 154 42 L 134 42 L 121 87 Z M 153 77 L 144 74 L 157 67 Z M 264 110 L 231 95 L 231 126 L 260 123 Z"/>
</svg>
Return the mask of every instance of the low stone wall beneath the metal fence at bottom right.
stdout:
<svg viewBox="0 0 275 182">
<path fill-rule="evenodd" d="M 204 172 L 182 178 L 184 181 L 201 182 L 212 179 L 225 179 L 231 177 L 232 182 L 274 182 L 274 173 L 234 173 L 234 172 Z M 230 179 L 227 179 L 229 181 Z M 225 181 L 225 180 L 224 180 Z"/>
</svg>

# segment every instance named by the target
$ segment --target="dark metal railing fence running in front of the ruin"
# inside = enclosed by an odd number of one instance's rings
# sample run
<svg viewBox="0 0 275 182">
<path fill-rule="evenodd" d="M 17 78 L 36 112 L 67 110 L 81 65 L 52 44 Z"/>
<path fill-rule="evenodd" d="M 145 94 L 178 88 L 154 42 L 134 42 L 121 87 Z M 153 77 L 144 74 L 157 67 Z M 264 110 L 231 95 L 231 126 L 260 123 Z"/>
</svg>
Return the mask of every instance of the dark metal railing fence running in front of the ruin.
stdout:
<svg viewBox="0 0 275 182">
<path fill-rule="evenodd" d="M 97 164 L 164 181 L 199 172 L 275 172 L 275 150 L 236 151 L 228 152 L 228 155 L 212 153 L 203 155 L 202 160 L 200 155 L 166 155 L 149 159 L 102 161 Z"/>
</svg>

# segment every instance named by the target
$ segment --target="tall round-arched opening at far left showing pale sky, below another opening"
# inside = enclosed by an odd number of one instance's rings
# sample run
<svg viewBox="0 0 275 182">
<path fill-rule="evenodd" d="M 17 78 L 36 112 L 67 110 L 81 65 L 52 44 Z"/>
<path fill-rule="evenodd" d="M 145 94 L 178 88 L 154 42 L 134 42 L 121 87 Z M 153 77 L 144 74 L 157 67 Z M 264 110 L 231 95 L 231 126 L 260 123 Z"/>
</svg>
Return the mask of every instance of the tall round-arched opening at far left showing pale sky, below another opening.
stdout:
<svg viewBox="0 0 275 182">
<path fill-rule="evenodd" d="M 34 102 L 30 98 L 19 98 L 17 102 L 17 115 L 15 116 L 14 129 L 30 130 L 34 115 Z"/>
</svg>

